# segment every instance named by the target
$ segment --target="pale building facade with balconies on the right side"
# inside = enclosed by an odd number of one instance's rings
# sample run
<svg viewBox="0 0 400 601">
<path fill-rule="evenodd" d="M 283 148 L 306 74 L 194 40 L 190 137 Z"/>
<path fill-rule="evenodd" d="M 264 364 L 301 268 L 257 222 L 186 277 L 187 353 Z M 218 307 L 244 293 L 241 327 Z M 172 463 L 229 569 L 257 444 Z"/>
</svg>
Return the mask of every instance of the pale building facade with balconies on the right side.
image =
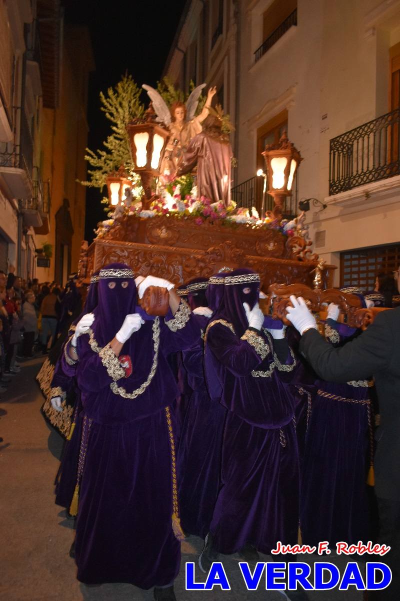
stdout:
<svg viewBox="0 0 400 601">
<path fill-rule="evenodd" d="M 335 285 L 370 289 L 397 269 L 399 0 L 191 0 L 164 71 L 222 87 L 238 204 L 260 202 L 261 151 L 287 130 L 303 157 L 287 213 L 308 200 Z"/>
</svg>

